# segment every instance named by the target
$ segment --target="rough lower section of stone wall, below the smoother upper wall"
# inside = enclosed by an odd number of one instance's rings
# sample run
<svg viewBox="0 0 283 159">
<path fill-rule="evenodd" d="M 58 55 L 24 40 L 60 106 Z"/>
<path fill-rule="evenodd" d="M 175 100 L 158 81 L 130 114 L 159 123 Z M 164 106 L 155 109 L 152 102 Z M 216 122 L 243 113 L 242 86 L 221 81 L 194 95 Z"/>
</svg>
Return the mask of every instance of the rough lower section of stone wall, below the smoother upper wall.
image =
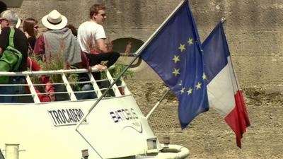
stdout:
<svg viewBox="0 0 283 159">
<path fill-rule="evenodd" d="M 168 88 L 161 81 L 126 81 L 144 115 Z M 236 146 L 236 136 L 212 108 L 198 115 L 186 129 L 178 120 L 178 101 L 169 93 L 149 117 L 149 124 L 163 141 L 190 149 L 190 158 L 283 158 L 283 95 L 258 88 L 243 88 L 250 124 Z"/>
</svg>

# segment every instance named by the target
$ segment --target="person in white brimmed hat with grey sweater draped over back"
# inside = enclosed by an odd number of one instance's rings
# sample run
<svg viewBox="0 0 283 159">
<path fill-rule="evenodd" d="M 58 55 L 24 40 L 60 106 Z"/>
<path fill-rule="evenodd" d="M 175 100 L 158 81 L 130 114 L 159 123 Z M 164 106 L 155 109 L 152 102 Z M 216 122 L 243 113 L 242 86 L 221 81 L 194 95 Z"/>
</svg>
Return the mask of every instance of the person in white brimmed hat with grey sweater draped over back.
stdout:
<svg viewBox="0 0 283 159">
<path fill-rule="evenodd" d="M 35 54 L 42 54 L 47 61 L 64 55 L 67 66 L 81 62 L 79 42 L 66 28 L 68 20 L 57 10 L 51 11 L 41 19 L 47 31 L 40 35 L 35 42 Z"/>
</svg>

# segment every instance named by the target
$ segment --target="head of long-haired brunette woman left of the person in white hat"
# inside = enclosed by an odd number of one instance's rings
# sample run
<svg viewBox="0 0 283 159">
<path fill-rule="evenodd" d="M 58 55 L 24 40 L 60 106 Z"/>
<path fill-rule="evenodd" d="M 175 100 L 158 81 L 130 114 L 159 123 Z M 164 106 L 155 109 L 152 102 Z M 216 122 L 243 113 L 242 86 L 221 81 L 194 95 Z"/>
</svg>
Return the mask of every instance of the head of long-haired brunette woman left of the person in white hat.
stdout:
<svg viewBox="0 0 283 159">
<path fill-rule="evenodd" d="M 33 18 L 23 20 L 23 32 L 28 37 L 28 42 L 32 49 L 35 48 L 36 35 L 38 31 L 38 21 Z"/>
</svg>

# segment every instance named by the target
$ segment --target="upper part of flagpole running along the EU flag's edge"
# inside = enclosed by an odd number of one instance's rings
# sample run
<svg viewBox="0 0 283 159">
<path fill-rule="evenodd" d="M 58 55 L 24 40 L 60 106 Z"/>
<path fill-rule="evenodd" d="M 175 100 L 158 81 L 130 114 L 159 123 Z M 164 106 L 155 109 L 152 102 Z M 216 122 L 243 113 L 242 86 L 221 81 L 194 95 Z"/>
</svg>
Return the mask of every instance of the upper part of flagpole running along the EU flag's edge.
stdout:
<svg viewBox="0 0 283 159">
<path fill-rule="evenodd" d="M 171 19 L 172 16 L 174 16 L 174 14 L 179 10 L 179 8 L 181 6 L 183 6 L 183 4 L 185 4 L 187 0 L 183 0 L 182 2 L 180 2 L 180 4 L 175 8 L 175 10 L 166 18 L 166 20 L 163 21 L 163 23 L 157 28 L 157 30 L 151 35 L 151 37 L 149 37 L 148 40 L 146 40 L 146 42 L 144 42 L 143 45 L 141 45 L 141 47 L 139 47 L 139 49 L 137 50 L 137 52 L 135 52 L 134 54 L 138 57 L 139 54 L 141 54 L 141 52 L 144 50 L 145 47 L 147 47 L 147 45 L 149 45 L 149 43 L 154 39 L 154 37 L 156 37 L 156 35 L 158 35 L 158 33 L 160 32 L 160 30 L 168 23 L 168 21 Z"/>
</svg>

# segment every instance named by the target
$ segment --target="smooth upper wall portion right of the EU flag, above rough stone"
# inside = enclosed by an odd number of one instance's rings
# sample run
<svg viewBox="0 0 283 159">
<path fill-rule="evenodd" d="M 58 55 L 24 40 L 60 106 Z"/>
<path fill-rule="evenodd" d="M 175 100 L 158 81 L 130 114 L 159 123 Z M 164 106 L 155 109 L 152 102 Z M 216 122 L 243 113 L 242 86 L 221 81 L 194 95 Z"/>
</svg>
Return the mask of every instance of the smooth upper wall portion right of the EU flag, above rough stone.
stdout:
<svg viewBox="0 0 283 159">
<path fill-rule="evenodd" d="M 202 39 L 221 16 L 238 80 L 282 92 L 283 1 L 195 1 L 192 12 Z"/>
</svg>

